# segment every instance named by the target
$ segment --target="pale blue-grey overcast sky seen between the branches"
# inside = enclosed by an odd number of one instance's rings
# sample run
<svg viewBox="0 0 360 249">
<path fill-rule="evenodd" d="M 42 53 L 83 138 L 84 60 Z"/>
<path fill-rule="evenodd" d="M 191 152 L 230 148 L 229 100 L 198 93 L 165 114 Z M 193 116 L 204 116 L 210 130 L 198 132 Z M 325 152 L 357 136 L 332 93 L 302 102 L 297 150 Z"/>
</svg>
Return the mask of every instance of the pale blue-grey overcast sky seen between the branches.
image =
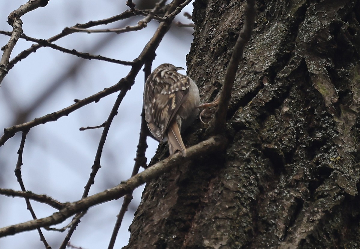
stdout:
<svg viewBox="0 0 360 249">
<path fill-rule="evenodd" d="M 60 33 L 64 27 L 117 15 L 127 9 L 125 2 L 126 0 L 51 0 L 46 7 L 38 8 L 21 18 L 23 30 L 28 36 L 48 39 Z M 26 0 L 0 1 L 0 30 L 12 30 L 6 23 L 7 17 L 24 3 Z M 192 13 L 192 4 L 183 10 L 185 11 Z M 120 21 L 101 28 L 136 25 L 142 18 Z M 182 14 L 177 21 L 190 22 Z M 75 33 L 56 41 L 55 44 L 84 53 L 132 61 L 152 37 L 157 26 L 156 21 L 151 21 L 148 27 L 141 31 L 119 35 Z M 162 63 L 186 68 L 185 57 L 193 40 L 192 32 L 192 28 L 188 27 L 173 28 L 158 47 L 153 68 Z M 8 40 L 8 36 L 0 35 L 0 46 L 4 46 Z M 10 59 L 31 44 L 19 40 Z M 47 47 L 37 50 L 15 64 L 1 83 L 0 135 L 3 134 L 3 128 L 14 125 L 19 118 L 24 118 L 22 122 L 26 122 L 56 112 L 73 104 L 74 99 L 84 99 L 116 84 L 126 76 L 129 69 L 129 66 L 80 59 Z M 102 168 L 96 175 L 90 195 L 116 186 L 131 175 L 139 139 L 143 83 L 144 75 L 143 71 L 140 71 L 135 85 L 126 94 L 111 125 L 103 150 Z M 51 90 L 47 98 L 40 98 L 51 86 L 56 86 L 55 90 Z M 107 119 L 117 95 L 118 93 L 115 93 L 98 103 L 86 105 L 57 122 L 31 129 L 25 143 L 22 166 L 22 177 L 27 190 L 49 195 L 60 202 L 72 202 L 81 198 L 102 129 L 79 131 L 79 128 L 102 124 Z M 41 101 L 37 103 L 39 98 Z M 19 114 L 23 112 L 26 115 Z M 14 175 L 20 139 L 21 133 L 17 133 L 0 148 L 1 188 L 20 190 Z M 148 139 L 148 145 L 147 157 L 150 160 L 158 142 Z M 140 202 L 143 187 L 135 190 L 134 200 L 124 218 L 114 248 L 127 245 L 127 229 Z M 56 211 L 44 204 L 31 203 L 38 218 L 49 216 Z M 81 219 L 71 244 L 84 249 L 107 248 L 121 204 L 122 199 L 91 208 Z M 32 218 L 24 199 L 0 195 L 0 227 L 30 219 Z M 69 221 L 68 219 L 56 227 L 63 227 Z M 66 232 L 42 231 L 52 248 L 58 248 L 66 236 Z M 0 248 L 44 248 L 44 245 L 34 230 L 1 238 Z"/>
</svg>

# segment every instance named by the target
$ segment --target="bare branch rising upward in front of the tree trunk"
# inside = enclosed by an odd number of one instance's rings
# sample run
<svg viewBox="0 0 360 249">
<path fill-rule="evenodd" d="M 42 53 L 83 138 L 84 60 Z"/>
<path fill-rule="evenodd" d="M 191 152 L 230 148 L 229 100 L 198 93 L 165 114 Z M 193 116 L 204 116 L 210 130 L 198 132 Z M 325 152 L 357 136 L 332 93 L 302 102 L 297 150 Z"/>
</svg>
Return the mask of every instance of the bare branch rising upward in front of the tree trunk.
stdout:
<svg viewBox="0 0 360 249">
<path fill-rule="evenodd" d="M 228 113 L 235 75 L 238 71 L 239 62 L 243 55 L 244 47 L 251 37 L 251 32 L 255 24 L 256 11 L 255 0 L 246 0 L 244 25 L 239 33 L 239 37 L 234 46 L 234 51 L 231 55 L 228 68 L 226 69 L 224 87 L 221 91 L 219 107 L 217 108 L 215 119 L 212 123 L 215 133 L 221 133 L 225 129 L 226 114 Z"/>
</svg>

